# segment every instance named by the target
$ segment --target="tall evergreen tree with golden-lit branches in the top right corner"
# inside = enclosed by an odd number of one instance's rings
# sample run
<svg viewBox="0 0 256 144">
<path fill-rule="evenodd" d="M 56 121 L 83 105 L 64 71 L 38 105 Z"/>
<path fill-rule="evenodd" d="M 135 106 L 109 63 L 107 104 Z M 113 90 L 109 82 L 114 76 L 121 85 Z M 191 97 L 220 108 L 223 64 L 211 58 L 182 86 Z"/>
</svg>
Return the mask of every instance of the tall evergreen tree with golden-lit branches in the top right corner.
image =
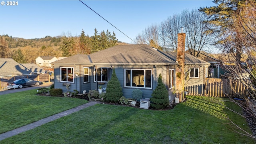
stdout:
<svg viewBox="0 0 256 144">
<path fill-rule="evenodd" d="M 223 51 L 234 53 L 237 63 L 240 63 L 244 45 L 239 43 L 239 37 L 243 36 L 239 32 L 241 28 L 237 28 L 237 26 L 241 23 L 240 18 L 246 18 L 248 15 L 247 12 L 243 12 L 243 8 L 254 7 L 255 9 L 256 1 L 214 0 L 213 2 L 216 6 L 200 8 L 199 11 L 204 12 L 210 18 L 205 22 L 214 26 L 211 32 L 217 34 L 220 38 L 217 44 L 223 44 L 220 46 L 224 47 Z M 234 43 L 236 47 L 226 48 L 227 42 Z"/>
</svg>

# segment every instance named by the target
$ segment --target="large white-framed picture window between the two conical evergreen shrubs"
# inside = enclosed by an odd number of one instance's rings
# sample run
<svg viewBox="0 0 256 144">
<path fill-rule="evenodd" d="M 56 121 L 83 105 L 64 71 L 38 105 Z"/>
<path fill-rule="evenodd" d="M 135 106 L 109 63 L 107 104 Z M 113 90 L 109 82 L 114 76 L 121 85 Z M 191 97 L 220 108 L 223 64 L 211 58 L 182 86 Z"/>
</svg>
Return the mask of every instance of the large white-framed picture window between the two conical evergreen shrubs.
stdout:
<svg viewBox="0 0 256 144">
<path fill-rule="evenodd" d="M 124 87 L 152 88 L 152 70 L 124 69 Z"/>
</svg>

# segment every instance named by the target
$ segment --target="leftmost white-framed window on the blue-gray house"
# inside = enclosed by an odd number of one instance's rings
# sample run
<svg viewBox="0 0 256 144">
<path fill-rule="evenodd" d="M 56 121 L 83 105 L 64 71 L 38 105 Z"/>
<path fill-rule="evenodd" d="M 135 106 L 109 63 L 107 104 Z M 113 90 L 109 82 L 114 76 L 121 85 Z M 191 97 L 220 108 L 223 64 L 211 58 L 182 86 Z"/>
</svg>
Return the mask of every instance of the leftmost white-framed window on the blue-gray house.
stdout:
<svg viewBox="0 0 256 144">
<path fill-rule="evenodd" d="M 74 82 L 74 68 L 60 67 L 60 82 Z"/>
</svg>

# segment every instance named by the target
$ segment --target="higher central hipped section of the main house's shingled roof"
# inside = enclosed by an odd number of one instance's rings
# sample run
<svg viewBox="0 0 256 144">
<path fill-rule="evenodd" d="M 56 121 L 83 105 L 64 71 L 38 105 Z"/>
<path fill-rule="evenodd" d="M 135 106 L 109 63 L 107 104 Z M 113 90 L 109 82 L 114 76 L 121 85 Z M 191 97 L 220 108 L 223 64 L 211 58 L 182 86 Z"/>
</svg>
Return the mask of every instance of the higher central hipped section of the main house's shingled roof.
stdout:
<svg viewBox="0 0 256 144">
<path fill-rule="evenodd" d="M 90 54 L 93 63 L 98 64 L 173 64 L 161 52 L 147 44 L 117 45 Z"/>
</svg>

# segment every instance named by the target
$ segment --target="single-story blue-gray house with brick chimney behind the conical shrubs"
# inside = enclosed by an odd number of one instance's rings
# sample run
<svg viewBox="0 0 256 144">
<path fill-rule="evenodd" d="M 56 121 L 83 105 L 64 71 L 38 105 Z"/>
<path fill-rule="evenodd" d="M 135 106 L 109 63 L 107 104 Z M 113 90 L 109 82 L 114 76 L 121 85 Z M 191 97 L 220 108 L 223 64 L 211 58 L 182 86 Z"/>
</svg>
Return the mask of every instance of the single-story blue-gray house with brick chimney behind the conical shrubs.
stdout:
<svg viewBox="0 0 256 144">
<path fill-rule="evenodd" d="M 134 88 L 142 90 L 142 98 L 150 98 L 157 86 L 160 73 L 171 100 L 174 99 L 172 94 L 174 89 L 180 92 L 184 90 L 185 84 L 184 80 L 182 81 L 184 70 L 191 70 L 186 73 L 189 74 L 187 87 L 192 88 L 196 85 L 194 87 L 202 88 L 205 72 L 210 64 L 193 56 L 184 55 L 185 34 L 182 34 L 184 39 L 182 38 L 178 57 L 176 57 L 177 53 L 166 54 L 149 45 L 136 44 L 113 46 L 93 54 L 77 54 L 52 62 L 54 88 L 61 88 L 63 92 L 67 92 L 64 84 L 70 83 L 70 91 L 78 90 L 80 94 L 83 90 L 88 92 L 91 89 L 98 89 L 100 85 L 104 88 L 111 79 L 113 68 L 126 98 L 132 97 Z M 199 93 L 198 89 L 196 93 Z M 183 99 L 181 95 L 178 97 L 180 101 Z"/>
</svg>

